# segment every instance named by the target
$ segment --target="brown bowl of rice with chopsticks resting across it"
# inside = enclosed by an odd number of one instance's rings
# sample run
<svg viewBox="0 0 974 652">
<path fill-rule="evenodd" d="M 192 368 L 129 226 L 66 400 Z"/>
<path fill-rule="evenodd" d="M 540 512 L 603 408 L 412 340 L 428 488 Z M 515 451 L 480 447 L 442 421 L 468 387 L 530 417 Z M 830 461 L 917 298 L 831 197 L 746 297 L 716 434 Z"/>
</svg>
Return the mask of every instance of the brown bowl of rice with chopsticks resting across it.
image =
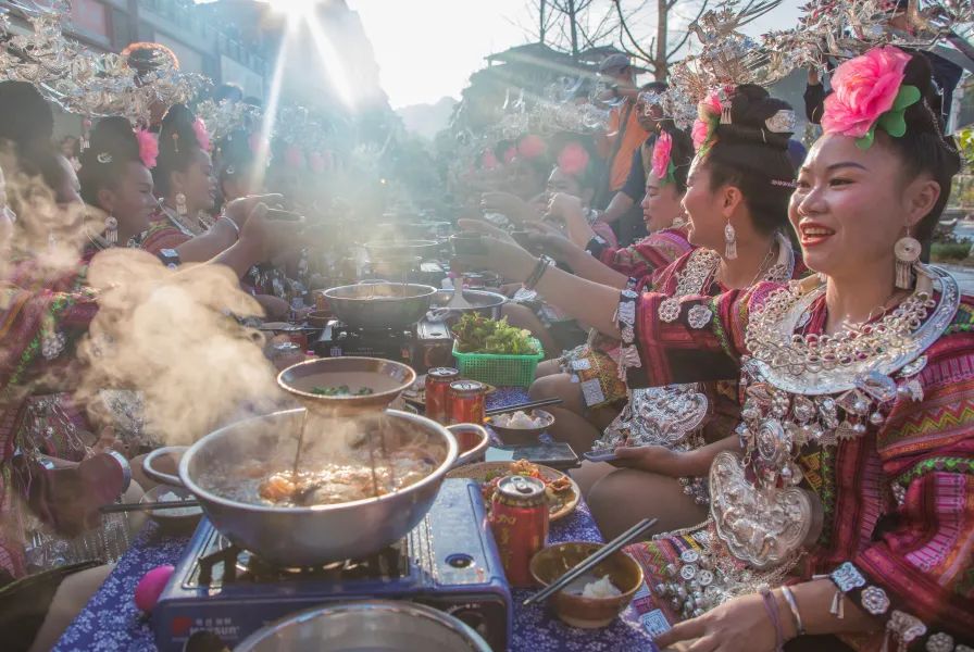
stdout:
<svg viewBox="0 0 974 652">
<path fill-rule="evenodd" d="M 530 574 L 535 581 L 548 586 L 595 554 L 602 546 L 588 541 L 549 546 L 532 557 Z M 605 575 L 615 588 L 622 591 L 621 595 L 582 597 L 586 584 L 601 579 Z M 567 625 L 580 629 L 596 629 L 608 626 L 619 617 L 641 586 L 642 567 L 633 557 L 620 551 L 552 595 L 549 603 L 555 615 Z"/>
</svg>

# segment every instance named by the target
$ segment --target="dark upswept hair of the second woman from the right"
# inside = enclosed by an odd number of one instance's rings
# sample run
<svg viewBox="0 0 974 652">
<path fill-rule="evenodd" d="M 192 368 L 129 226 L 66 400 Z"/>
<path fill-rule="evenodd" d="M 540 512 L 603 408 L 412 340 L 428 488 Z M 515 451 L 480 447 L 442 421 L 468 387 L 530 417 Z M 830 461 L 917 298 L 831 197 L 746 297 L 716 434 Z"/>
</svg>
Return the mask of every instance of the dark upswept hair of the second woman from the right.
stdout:
<svg viewBox="0 0 974 652">
<path fill-rule="evenodd" d="M 791 105 L 754 84 L 735 88 L 729 102 L 730 123 L 717 125 L 704 158 L 711 188 L 739 189 L 760 233 L 784 229 L 795 180 L 788 158 L 791 134 L 772 131 L 765 121 L 778 111 L 790 111 Z"/>
</svg>

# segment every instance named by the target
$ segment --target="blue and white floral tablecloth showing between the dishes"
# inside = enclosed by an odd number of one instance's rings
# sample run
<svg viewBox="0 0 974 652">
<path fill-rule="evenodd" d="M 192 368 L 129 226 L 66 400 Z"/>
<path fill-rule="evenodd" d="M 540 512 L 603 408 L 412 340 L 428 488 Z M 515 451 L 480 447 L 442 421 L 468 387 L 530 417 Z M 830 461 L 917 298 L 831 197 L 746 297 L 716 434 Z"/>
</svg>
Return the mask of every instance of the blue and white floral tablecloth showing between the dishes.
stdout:
<svg viewBox="0 0 974 652">
<path fill-rule="evenodd" d="M 491 408 L 524 401 L 523 390 L 502 389 L 489 397 Z M 155 650 L 148 617 L 135 606 L 135 587 L 148 570 L 176 565 L 189 537 L 164 536 L 153 524 L 133 542 L 91 601 L 64 632 L 54 650 L 152 651 Z M 591 513 L 580 501 L 573 514 L 551 524 L 548 541 L 601 541 Z M 645 587 L 642 590 L 646 590 Z M 654 647 L 639 616 L 629 607 L 603 629 L 575 629 L 558 620 L 544 605 L 523 606 L 528 591 L 514 590 L 512 652 L 622 652 Z"/>
</svg>

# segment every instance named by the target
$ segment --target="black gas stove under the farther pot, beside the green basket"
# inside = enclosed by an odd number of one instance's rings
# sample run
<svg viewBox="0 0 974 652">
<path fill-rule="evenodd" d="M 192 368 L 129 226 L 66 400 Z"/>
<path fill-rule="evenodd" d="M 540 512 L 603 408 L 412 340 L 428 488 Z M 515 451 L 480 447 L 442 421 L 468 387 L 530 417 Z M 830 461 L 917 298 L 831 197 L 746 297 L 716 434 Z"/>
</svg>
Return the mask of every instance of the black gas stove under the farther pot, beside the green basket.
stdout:
<svg viewBox="0 0 974 652">
<path fill-rule="evenodd" d="M 430 367 L 451 366 L 453 336 L 441 322 L 422 321 L 409 328 L 351 328 L 333 321 L 314 343 L 322 358 L 363 355 L 405 362 L 417 374 Z"/>
</svg>

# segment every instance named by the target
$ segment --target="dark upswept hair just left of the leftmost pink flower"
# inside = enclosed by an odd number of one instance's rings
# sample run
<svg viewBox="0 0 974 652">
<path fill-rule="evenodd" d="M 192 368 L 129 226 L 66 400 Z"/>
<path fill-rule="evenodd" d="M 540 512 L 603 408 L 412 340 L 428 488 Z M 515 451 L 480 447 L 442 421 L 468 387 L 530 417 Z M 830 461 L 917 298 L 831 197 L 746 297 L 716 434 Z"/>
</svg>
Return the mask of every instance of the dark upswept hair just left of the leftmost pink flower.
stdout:
<svg viewBox="0 0 974 652">
<path fill-rule="evenodd" d="M 113 188 L 125 174 L 129 163 L 141 163 L 139 141 L 132 124 L 124 117 L 105 117 L 99 121 L 89 135 L 89 146 L 82 152 L 82 199 L 92 206 L 98 204 L 98 192 Z"/>
</svg>

